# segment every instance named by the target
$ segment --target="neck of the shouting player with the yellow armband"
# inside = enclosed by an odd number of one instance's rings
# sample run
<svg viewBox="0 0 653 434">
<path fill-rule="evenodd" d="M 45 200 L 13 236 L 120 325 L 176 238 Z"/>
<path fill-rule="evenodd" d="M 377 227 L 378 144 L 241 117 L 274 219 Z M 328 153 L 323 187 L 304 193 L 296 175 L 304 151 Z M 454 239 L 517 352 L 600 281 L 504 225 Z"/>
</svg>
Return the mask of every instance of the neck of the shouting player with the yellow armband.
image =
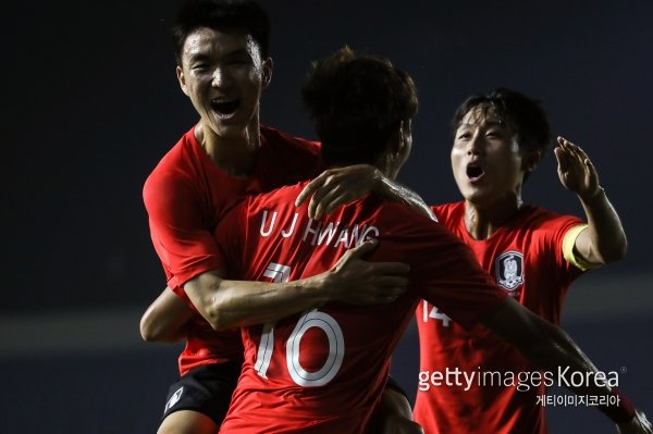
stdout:
<svg viewBox="0 0 653 434">
<path fill-rule="evenodd" d="M 465 227 L 475 239 L 490 238 L 515 215 L 522 206 L 521 195 L 497 200 L 489 204 L 465 201 Z"/>
</svg>

